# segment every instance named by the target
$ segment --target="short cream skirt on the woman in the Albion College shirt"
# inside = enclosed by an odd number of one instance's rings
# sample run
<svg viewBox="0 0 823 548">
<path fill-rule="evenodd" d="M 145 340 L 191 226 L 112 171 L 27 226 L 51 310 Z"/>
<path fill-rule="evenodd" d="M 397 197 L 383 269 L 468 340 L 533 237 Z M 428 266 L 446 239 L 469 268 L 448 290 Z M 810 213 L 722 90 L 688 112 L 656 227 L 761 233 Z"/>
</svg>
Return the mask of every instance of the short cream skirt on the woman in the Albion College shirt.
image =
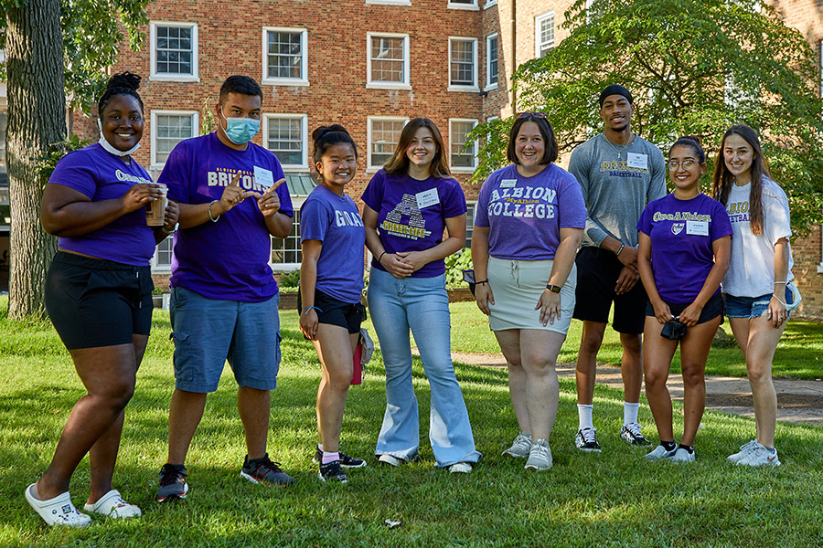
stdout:
<svg viewBox="0 0 823 548">
<path fill-rule="evenodd" d="M 542 329 L 566 334 L 572 323 L 574 290 L 577 287 L 577 266 L 572 266 L 563 285 L 561 317 L 554 323 L 540 323 L 540 310 L 535 310 L 540 295 L 549 283 L 553 260 L 511 260 L 488 258 L 488 285 L 495 304 L 489 304 L 488 326 L 492 331 L 506 329 Z"/>
</svg>

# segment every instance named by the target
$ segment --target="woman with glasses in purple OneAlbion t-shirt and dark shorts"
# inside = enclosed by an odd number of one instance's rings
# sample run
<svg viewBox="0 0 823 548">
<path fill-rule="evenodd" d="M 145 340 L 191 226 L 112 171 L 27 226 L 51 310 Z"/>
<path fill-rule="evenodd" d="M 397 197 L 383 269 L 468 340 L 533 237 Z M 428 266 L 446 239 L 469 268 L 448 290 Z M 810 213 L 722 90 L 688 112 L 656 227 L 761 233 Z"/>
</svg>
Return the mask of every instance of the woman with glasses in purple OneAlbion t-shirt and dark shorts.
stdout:
<svg viewBox="0 0 823 548">
<path fill-rule="evenodd" d="M 700 143 L 679 138 L 668 151 L 668 175 L 675 190 L 649 203 L 637 222 L 637 268 L 649 300 L 643 370 L 660 437 L 657 448 L 646 455 L 648 460 L 694 461 L 694 437 L 706 406 L 706 360 L 723 321 L 720 282 L 729 268 L 732 227 L 723 206 L 700 192 L 705 171 Z M 666 387 L 678 344 L 685 407 L 679 446 Z"/>
</svg>

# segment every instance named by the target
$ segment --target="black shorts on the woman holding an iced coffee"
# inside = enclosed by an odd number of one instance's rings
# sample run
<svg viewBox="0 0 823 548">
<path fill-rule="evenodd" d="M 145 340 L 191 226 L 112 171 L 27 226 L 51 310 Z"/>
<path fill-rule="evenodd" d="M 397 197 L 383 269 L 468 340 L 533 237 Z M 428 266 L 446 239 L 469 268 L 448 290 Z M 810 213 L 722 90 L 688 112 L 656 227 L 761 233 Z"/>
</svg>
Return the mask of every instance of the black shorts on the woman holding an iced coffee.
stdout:
<svg viewBox="0 0 823 548">
<path fill-rule="evenodd" d="M 46 275 L 46 311 L 69 350 L 131 344 L 152 327 L 152 271 L 58 251 Z"/>
</svg>

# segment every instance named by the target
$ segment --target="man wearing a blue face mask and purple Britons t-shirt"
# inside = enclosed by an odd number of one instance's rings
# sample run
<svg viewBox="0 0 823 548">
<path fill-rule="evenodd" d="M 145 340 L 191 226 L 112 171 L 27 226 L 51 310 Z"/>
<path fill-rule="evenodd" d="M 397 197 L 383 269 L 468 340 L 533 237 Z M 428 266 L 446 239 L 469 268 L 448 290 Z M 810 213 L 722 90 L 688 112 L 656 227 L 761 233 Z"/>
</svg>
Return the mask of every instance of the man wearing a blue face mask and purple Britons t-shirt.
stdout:
<svg viewBox="0 0 823 548">
<path fill-rule="evenodd" d="M 158 179 L 180 205 L 180 230 L 170 280 L 176 383 L 157 501 L 187 495 L 188 448 L 227 359 L 247 448 L 240 477 L 294 483 L 266 453 L 281 356 L 270 237 L 288 236 L 294 209 L 277 158 L 251 142 L 261 107 L 257 82 L 226 79 L 217 132 L 177 144 Z"/>
</svg>

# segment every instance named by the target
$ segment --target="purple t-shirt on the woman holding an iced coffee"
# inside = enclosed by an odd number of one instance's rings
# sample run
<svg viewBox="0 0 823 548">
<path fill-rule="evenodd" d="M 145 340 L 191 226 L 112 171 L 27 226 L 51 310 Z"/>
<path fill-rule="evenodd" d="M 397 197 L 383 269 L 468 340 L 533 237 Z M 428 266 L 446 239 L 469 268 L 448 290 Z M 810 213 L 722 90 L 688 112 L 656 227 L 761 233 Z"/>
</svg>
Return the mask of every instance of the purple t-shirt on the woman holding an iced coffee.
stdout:
<svg viewBox="0 0 823 548">
<path fill-rule="evenodd" d="M 96 142 L 63 156 L 48 179 L 48 184 L 73 188 L 92 202 L 119 198 L 137 183 L 152 183 L 152 177 L 134 158 L 125 163 Z M 89 234 L 60 237 L 59 248 L 142 267 L 155 255 L 155 232 L 145 225 L 141 207 Z"/>
</svg>

